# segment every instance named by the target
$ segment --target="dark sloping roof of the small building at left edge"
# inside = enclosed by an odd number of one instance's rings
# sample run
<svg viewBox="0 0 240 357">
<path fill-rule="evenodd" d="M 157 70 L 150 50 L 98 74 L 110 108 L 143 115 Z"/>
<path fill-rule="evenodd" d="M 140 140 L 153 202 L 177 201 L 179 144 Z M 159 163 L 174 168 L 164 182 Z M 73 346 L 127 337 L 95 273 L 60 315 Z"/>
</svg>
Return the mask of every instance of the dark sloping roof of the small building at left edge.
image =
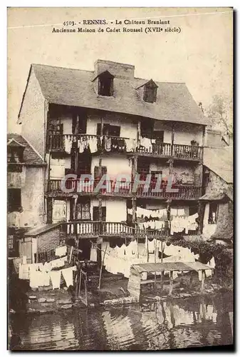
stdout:
<svg viewBox="0 0 240 357">
<path fill-rule="evenodd" d="M 42 166 L 45 165 L 43 159 L 41 158 L 40 154 L 33 149 L 33 146 L 24 139 L 23 136 L 19 134 L 7 134 L 8 143 L 12 143 L 13 141 L 17 142 L 21 146 L 25 146 L 24 149 L 24 164 L 26 165 L 33 165 L 33 166 Z"/>
</svg>

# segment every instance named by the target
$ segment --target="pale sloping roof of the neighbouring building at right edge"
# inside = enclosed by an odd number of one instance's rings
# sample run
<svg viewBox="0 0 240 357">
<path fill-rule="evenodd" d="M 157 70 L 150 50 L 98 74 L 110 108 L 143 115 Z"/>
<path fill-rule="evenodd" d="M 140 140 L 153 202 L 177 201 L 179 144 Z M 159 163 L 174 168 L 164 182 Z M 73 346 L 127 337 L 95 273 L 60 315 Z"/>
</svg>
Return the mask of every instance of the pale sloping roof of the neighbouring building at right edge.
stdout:
<svg viewBox="0 0 240 357">
<path fill-rule="evenodd" d="M 233 148 L 204 148 L 203 163 L 226 183 L 233 183 Z"/>
</svg>

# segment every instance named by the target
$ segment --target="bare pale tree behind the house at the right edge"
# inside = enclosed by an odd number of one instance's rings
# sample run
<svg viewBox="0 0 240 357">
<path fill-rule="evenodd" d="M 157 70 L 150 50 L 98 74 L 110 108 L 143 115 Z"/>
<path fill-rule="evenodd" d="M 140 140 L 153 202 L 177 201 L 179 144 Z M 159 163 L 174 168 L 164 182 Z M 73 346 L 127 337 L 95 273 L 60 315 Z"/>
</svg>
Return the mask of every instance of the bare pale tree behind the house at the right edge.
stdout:
<svg viewBox="0 0 240 357">
<path fill-rule="evenodd" d="M 216 94 L 207 109 L 207 116 L 212 119 L 212 127 L 221 130 L 223 136 L 233 137 L 233 105 L 231 99 Z"/>
</svg>

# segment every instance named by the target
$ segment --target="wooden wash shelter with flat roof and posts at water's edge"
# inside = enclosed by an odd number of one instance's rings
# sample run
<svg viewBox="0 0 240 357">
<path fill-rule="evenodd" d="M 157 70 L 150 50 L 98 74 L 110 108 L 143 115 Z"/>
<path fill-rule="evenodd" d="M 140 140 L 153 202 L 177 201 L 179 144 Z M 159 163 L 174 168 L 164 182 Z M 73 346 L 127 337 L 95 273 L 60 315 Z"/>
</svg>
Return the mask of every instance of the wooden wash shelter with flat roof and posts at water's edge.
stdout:
<svg viewBox="0 0 240 357">
<path fill-rule="evenodd" d="M 142 264 L 133 264 L 130 268 L 130 277 L 127 284 L 127 290 L 130 295 L 133 296 L 137 301 L 140 300 L 141 286 L 145 284 L 155 284 L 156 283 L 156 274 L 155 279 L 153 280 L 147 278 L 147 273 L 164 273 L 169 271 L 169 295 L 172 294 L 173 286 L 173 272 L 174 271 L 201 271 L 202 274 L 202 291 L 204 289 L 204 280 L 206 277 L 206 270 L 213 270 L 211 266 L 195 262 L 182 262 L 178 261 L 175 263 L 142 263 Z"/>
</svg>

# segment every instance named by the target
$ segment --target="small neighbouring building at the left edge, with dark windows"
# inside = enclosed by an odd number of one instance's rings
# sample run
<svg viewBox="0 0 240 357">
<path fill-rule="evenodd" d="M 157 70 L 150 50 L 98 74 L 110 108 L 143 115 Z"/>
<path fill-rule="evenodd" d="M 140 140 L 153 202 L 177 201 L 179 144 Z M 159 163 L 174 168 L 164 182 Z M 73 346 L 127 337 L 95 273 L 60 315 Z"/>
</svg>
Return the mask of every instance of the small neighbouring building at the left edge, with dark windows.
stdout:
<svg viewBox="0 0 240 357">
<path fill-rule="evenodd" d="M 19 134 L 7 136 L 7 196 L 9 251 L 17 256 L 17 239 L 44 221 L 46 164 Z"/>
</svg>

